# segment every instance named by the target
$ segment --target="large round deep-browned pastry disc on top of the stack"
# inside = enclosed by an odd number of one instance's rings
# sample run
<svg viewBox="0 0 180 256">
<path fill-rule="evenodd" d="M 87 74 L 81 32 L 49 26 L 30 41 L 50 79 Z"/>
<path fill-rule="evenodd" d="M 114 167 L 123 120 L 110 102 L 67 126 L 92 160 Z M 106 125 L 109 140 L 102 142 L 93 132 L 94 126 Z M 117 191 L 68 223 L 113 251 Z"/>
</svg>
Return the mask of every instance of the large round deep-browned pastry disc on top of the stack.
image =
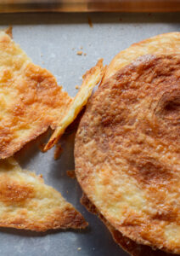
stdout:
<svg viewBox="0 0 180 256">
<path fill-rule="evenodd" d="M 179 119 L 180 55 L 143 55 L 98 88 L 75 144 L 76 177 L 104 218 L 172 253 L 180 253 Z"/>
</svg>

